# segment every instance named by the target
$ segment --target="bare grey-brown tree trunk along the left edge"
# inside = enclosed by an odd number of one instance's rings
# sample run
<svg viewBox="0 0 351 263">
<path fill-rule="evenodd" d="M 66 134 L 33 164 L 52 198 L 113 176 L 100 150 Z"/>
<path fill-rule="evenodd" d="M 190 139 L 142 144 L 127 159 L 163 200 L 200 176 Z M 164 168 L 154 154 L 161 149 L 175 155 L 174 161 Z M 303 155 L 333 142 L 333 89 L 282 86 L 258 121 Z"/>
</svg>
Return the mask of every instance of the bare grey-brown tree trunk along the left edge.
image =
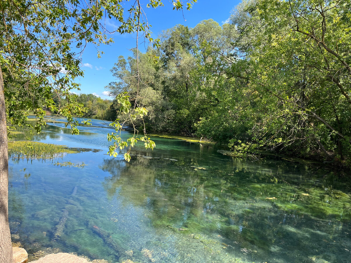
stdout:
<svg viewBox="0 0 351 263">
<path fill-rule="evenodd" d="M 8 153 L 4 79 L 0 65 L 0 263 L 12 263 L 8 224 Z"/>
</svg>

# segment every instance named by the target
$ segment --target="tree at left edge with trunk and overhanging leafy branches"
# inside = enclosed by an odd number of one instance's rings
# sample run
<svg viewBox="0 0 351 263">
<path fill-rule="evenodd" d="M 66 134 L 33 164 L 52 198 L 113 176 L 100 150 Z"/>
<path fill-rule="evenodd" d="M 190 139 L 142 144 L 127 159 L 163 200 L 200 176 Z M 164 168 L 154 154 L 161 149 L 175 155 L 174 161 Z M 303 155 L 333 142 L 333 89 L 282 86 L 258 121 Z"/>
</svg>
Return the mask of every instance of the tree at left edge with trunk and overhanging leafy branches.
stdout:
<svg viewBox="0 0 351 263">
<path fill-rule="evenodd" d="M 82 76 L 79 54 L 87 43 L 112 43 L 101 22 L 104 15 L 120 22 L 117 32 L 137 33 L 151 42 L 149 24 L 137 0 L 124 15 L 121 0 L 9 0 L 0 1 L 0 262 L 12 262 L 8 225 L 7 127 L 27 125 L 34 112 L 35 129 L 40 132 L 45 112 L 42 106 L 67 118 L 72 133 L 78 134 L 74 114 L 83 107 L 69 93 L 79 88 L 75 78 Z M 163 5 L 147 1 L 147 7 Z M 174 9 L 190 9 L 193 1 L 174 1 Z M 139 34 L 139 32 L 141 32 Z M 157 43 L 157 42 L 156 42 Z M 98 55 L 100 55 L 99 53 Z M 139 74 L 138 74 L 139 75 Z M 59 104 L 54 103 L 52 92 Z M 64 97 L 66 103 L 60 103 Z M 117 139 L 117 138 L 116 138 Z"/>
</svg>

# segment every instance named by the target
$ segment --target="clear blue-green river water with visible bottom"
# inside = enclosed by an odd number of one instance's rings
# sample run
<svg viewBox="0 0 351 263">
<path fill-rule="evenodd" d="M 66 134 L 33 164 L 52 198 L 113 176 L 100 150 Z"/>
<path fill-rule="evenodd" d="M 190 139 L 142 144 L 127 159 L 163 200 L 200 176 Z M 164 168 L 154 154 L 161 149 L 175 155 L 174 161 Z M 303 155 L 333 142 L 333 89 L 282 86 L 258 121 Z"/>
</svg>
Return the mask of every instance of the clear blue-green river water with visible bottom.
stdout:
<svg viewBox="0 0 351 263">
<path fill-rule="evenodd" d="M 158 137 L 126 163 L 106 155 L 105 126 L 48 123 L 33 136 L 101 149 L 55 160 L 84 168 L 9 161 L 12 240 L 31 260 L 58 248 L 111 263 L 351 262 L 351 184 L 337 174 Z"/>
</svg>

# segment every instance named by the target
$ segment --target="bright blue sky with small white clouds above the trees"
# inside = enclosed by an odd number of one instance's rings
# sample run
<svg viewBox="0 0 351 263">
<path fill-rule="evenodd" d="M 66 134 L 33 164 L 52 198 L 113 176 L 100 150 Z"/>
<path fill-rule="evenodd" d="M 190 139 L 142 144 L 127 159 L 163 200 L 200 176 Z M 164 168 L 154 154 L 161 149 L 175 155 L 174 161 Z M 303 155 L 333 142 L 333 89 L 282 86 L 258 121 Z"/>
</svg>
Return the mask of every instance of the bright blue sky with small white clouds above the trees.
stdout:
<svg viewBox="0 0 351 263">
<path fill-rule="evenodd" d="M 154 39 L 157 38 L 158 33 L 178 24 L 193 28 L 202 20 L 213 19 L 219 25 L 223 25 L 223 23 L 228 21 L 227 19 L 232 9 L 240 2 L 240 0 L 198 0 L 190 11 L 184 10 L 184 20 L 181 11 L 172 10 L 173 5 L 170 1 L 164 0 L 164 6 L 155 9 L 146 8 L 147 0 L 140 1 L 145 3 L 142 7 L 148 22 L 152 25 L 151 31 Z M 124 1 L 123 3 L 126 5 L 126 9 L 129 9 L 131 2 Z M 117 28 L 119 25 L 117 21 L 113 20 L 107 20 L 105 23 L 109 30 L 113 30 L 113 27 Z M 82 69 L 85 71 L 85 74 L 84 77 L 76 80 L 81 84 L 81 90 L 72 90 L 72 92 L 77 94 L 92 93 L 102 99 L 112 99 L 107 96 L 105 90 L 105 86 L 114 81 L 110 69 L 117 62 L 118 56 L 127 57 L 132 54 L 130 49 L 135 47 L 135 36 L 115 33 L 112 35 L 112 38 L 114 39 L 112 45 L 101 45 L 98 47 L 100 51 L 104 52 L 101 58 L 98 58 L 97 48 L 93 45 L 85 48 L 82 54 Z M 143 47 L 140 50 L 143 50 Z"/>
</svg>

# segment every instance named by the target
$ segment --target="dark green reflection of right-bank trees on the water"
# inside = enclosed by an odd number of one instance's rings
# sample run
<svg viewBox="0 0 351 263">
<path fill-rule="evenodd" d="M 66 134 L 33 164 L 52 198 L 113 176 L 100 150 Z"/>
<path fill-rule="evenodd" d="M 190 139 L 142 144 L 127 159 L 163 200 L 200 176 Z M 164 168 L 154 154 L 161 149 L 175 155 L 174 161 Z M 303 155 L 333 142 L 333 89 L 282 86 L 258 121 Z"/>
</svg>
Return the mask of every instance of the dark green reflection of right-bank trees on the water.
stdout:
<svg viewBox="0 0 351 263">
<path fill-rule="evenodd" d="M 145 209 L 155 229 L 184 235 L 183 249 L 198 235 L 248 261 L 348 261 L 351 200 L 332 173 L 283 162 L 208 164 L 137 155 L 125 167 L 105 159 L 100 168 L 112 175 L 103 183 L 109 198 L 118 193 Z"/>
</svg>

